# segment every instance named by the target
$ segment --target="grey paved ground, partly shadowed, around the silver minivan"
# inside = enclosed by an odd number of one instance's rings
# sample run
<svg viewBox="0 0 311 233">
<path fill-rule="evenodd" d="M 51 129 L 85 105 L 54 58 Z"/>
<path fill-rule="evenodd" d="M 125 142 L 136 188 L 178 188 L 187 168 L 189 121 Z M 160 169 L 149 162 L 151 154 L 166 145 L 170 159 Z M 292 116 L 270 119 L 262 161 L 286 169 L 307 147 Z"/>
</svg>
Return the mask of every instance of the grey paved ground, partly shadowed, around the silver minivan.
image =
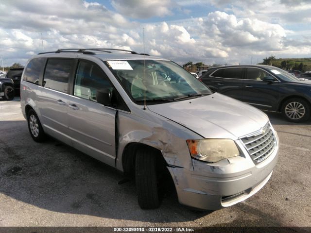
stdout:
<svg viewBox="0 0 311 233">
<path fill-rule="evenodd" d="M 19 98 L 0 100 L 0 227 L 4 226 L 309 226 L 311 121 L 267 113 L 280 137 L 270 181 L 242 203 L 197 212 L 168 192 L 156 210 L 138 207 L 135 183 L 58 141 L 35 143 Z"/>
</svg>

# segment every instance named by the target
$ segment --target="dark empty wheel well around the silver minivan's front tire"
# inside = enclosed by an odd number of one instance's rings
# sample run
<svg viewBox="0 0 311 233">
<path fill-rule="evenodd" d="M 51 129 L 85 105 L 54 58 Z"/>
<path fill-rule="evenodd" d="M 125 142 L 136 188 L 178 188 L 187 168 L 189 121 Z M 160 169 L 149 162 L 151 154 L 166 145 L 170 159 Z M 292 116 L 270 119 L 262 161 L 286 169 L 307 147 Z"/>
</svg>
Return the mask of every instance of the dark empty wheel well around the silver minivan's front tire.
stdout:
<svg viewBox="0 0 311 233">
<path fill-rule="evenodd" d="M 144 149 L 144 150 L 150 150 L 150 151 L 156 151 L 158 153 L 157 159 L 158 159 L 158 164 L 166 168 L 167 163 L 162 155 L 162 152 L 158 149 L 155 149 L 151 146 L 148 146 L 146 144 L 142 143 L 130 143 L 126 145 L 125 149 L 123 150 L 122 153 L 122 166 L 123 166 L 123 171 L 125 174 L 134 176 L 135 174 L 135 159 L 136 159 L 136 152 L 138 149 Z"/>
</svg>

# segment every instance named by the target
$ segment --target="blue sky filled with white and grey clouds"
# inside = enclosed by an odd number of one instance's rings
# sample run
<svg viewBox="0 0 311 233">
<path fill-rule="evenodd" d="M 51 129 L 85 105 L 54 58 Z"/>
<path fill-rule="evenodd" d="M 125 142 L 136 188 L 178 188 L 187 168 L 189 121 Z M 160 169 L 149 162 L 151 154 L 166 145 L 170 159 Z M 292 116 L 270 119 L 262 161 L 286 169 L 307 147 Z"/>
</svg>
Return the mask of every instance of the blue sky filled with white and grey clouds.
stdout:
<svg viewBox="0 0 311 233">
<path fill-rule="evenodd" d="M 311 57 L 310 37 L 311 0 L 0 0 L 4 67 L 65 48 L 257 64 Z"/>
</svg>

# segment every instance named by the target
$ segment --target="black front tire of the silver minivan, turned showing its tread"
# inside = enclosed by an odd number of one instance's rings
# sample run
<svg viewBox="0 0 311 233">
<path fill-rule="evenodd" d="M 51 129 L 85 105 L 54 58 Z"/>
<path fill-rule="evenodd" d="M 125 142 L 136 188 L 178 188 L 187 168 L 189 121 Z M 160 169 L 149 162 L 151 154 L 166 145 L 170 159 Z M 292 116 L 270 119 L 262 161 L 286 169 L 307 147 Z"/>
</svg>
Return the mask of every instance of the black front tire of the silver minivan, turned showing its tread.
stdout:
<svg viewBox="0 0 311 233">
<path fill-rule="evenodd" d="M 157 157 L 155 150 L 141 147 L 135 160 L 135 179 L 138 204 L 141 209 L 155 209 L 160 205 L 157 177 Z"/>
</svg>

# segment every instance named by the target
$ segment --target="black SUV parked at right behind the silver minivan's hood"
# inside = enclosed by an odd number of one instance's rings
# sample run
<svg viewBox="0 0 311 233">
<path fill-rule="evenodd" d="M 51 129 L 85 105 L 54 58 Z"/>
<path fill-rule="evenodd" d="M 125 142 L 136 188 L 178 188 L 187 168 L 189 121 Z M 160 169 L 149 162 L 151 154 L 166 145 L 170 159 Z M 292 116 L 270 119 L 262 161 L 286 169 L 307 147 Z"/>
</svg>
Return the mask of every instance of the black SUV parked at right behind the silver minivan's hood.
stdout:
<svg viewBox="0 0 311 233">
<path fill-rule="evenodd" d="M 226 66 L 209 69 L 201 81 L 210 89 L 254 105 L 282 112 L 290 121 L 310 118 L 311 81 L 272 66 Z"/>
</svg>

